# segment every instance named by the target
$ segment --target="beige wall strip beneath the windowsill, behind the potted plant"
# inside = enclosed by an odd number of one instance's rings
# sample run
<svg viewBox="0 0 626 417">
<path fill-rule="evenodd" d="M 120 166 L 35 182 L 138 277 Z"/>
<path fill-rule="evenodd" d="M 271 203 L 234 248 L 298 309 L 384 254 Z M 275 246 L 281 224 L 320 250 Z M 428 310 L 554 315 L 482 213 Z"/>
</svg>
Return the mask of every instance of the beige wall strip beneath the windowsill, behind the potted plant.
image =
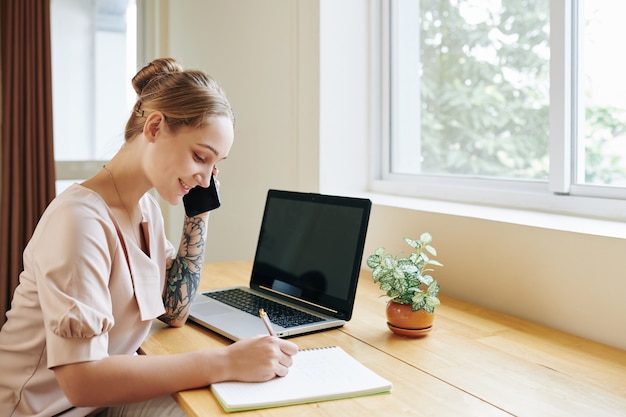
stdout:
<svg viewBox="0 0 626 417">
<path fill-rule="evenodd" d="M 366 253 L 433 235 L 442 293 L 626 349 L 626 241 L 375 205 Z"/>
</svg>

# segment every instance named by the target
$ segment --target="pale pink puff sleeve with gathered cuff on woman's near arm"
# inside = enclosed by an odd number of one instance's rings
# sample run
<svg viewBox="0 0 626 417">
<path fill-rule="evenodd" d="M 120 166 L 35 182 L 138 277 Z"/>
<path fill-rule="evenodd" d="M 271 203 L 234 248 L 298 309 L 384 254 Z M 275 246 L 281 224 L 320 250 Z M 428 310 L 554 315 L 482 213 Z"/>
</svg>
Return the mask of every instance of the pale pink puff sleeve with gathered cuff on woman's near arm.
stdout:
<svg viewBox="0 0 626 417">
<path fill-rule="evenodd" d="M 95 205 L 75 203 L 50 207 L 24 255 L 33 266 L 50 368 L 106 357 L 115 324 L 108 285 L 115 230 Z"/>
</svg>

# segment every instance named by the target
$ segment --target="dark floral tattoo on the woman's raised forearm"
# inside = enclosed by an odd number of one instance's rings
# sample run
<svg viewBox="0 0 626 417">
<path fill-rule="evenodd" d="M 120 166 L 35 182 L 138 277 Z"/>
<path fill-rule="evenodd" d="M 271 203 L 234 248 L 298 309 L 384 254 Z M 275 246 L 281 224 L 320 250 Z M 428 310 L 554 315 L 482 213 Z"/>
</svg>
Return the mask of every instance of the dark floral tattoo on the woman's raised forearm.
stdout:
<svg viewBox="0 0 626 417">
<path fill-rule="evenodd" d="M 178 256 L 167 273 L 163 294 L 166 323 L 185 319 L 196 295 L 204 262 L 206 222 L 202 218 L 185 218 Z"/>
</svg>

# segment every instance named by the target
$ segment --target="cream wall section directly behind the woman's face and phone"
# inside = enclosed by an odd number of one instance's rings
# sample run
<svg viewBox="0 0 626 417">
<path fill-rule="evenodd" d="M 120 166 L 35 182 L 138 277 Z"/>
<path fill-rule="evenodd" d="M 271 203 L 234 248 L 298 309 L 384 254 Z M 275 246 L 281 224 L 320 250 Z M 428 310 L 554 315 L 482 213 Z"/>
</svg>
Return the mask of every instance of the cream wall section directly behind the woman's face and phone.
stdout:
<svg viewBox="0 0 626 417">
<path fill-rule="evenodd" d="M 169 36 L 155 55 L 213 75 L 236 116 L 235 144 L 219 165 L 222 207 L 211 215 L 206 261 L 252 258 L 267 190 L 319 189 L 318 28 L 310 24 L 318 19 L 309 7 L 316 2 L 161 3 L 159 25 Z M 173 241 L 181 210 L 169 209 Z"/>
</svg>

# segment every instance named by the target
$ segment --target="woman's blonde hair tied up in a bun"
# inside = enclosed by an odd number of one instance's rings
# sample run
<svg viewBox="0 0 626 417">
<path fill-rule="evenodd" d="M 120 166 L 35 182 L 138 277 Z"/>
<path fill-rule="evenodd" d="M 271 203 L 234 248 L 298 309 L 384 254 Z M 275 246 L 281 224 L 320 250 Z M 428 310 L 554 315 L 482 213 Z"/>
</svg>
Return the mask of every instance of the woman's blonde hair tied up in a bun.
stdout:
<svg viewBox="0 0 626 417">
<path fill-rule="evenodd" d="M 218 83 L 199 70 L 185 70 L 173 58 L 158 58 L 133 77 L 138 98 L 124 137 L 128 141 L 143 131 L 145 118 L 154 111 L 167 125 L 202 127 L 211 117 L 225 116 L 235 123 L 233 110 Z"/>
</svg>

